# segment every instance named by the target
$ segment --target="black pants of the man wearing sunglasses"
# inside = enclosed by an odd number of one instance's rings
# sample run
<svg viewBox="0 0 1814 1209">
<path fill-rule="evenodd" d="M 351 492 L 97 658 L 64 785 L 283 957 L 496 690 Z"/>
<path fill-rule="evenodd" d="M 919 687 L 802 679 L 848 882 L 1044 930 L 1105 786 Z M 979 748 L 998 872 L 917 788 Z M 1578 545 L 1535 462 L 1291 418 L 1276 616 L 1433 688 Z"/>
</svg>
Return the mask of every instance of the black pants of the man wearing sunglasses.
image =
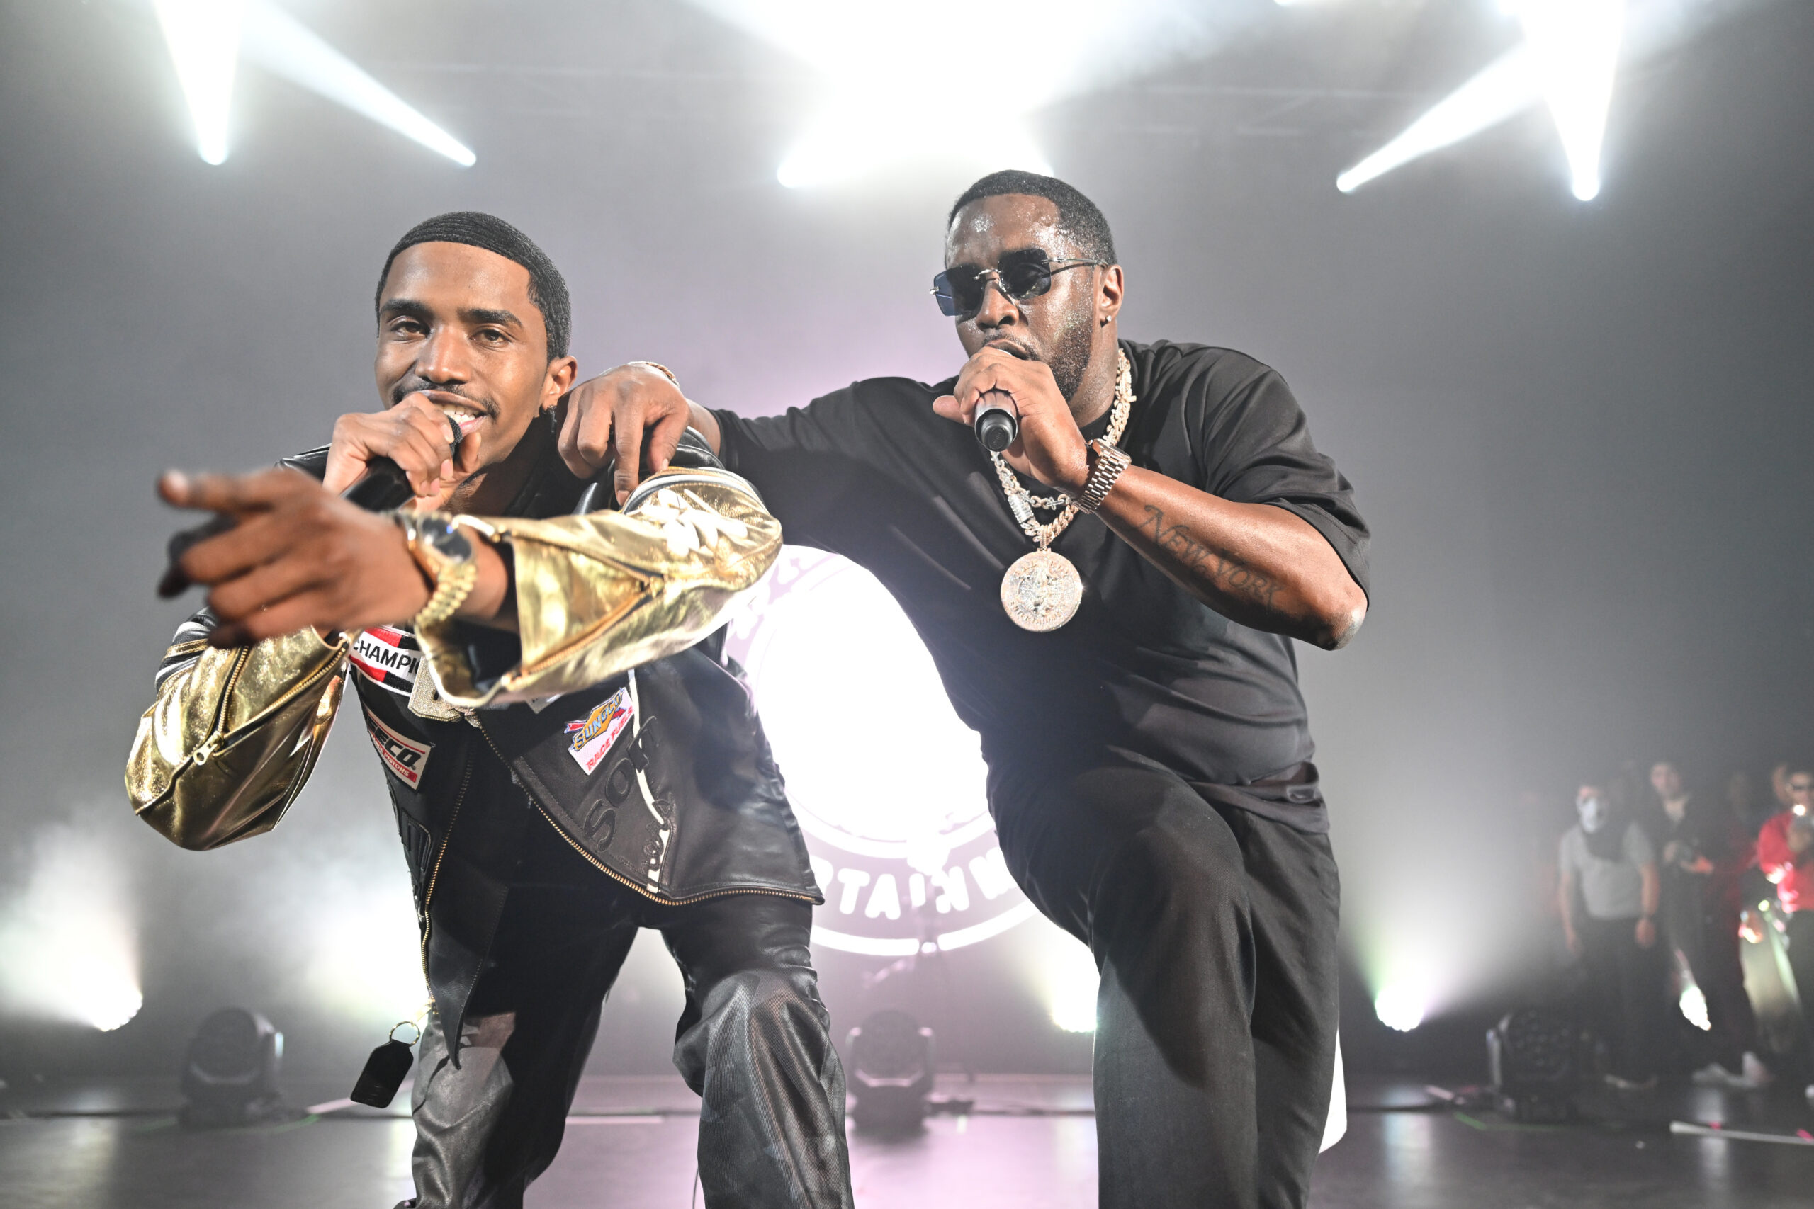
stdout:
<svg viewBox="0 0 1814 1209">
<path fill-rule="evenodd" d="M 994 769 L 990 805 L 1014 877 L 1103 975 L 1101 1207 L 1304 1205 L 1335 1068 L 1328 836 L 1132 756 Z"/>
</svg>

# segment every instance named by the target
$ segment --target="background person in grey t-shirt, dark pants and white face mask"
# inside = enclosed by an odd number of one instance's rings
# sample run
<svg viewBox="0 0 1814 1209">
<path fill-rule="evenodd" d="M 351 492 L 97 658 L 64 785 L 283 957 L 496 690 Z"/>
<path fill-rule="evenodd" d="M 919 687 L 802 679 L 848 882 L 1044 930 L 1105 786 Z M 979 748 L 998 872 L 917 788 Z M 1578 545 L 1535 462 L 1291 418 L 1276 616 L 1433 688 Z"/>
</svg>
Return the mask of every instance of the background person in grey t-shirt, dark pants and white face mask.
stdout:
<svg viewBox="0 0 1814 1209">
<path fill-rule="evenodd" d="M 1575 812 L 1580 821 L 1562 836 L 1556 859 L 1562 930 L 1587 973 L 1593 1028 L 1611 1051 L 1607 1082 L 1654 1088 L 1663 1020 L 1656 850 L 1598 785 L 1580 787 Z"/>
</svg>

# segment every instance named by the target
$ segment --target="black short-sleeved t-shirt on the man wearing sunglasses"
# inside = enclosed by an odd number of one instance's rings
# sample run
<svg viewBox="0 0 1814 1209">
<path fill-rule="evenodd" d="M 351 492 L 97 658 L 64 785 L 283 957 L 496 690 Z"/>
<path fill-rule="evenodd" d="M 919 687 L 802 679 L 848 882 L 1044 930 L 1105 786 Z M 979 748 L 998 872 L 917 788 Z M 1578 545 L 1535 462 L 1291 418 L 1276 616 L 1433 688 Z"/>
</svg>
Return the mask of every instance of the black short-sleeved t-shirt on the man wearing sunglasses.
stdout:
<svg viewBox="0 0 1814 1209">
<path fill-rule="evenodd" d="M 1366 522 L 1279 373 L 1226 348 L 1121 348 L 1136 397 L 1121 448 L 1136 466 L 1297 513 L 1366 589 Z M 785 540 L 840 553 L 894 595 L 992 772 L 1117 749 L 1199 787 L 1286 776 L 1279 808 L 1235 805 L 1322 830 L 1292 640 L 1221 616 L 1081 513 L 1052 544 L 1083 576 L 1078 614 L 1043 634 L 1009 620 L 1001 576 L 1034 544 L 970 430 L 932 411 L 954 381 L 867 379 L 755 421 L 718 411 L 724 462 Z"/>
</svg>

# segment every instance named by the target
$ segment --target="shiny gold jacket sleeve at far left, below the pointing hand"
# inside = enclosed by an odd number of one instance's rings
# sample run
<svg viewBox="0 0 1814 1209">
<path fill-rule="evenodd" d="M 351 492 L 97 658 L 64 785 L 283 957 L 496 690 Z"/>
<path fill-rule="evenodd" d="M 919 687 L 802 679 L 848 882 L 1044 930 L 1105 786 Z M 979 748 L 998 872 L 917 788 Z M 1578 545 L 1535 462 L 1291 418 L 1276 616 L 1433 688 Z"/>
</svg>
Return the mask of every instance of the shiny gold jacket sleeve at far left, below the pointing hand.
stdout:
<svg viewBox="0 0 1814 1209">
<path fill-rule="evenodd" d="M 125 765 L 132 812 L 196 850 L 283 817 L 334 721 L 348 645 L 305 629 L 218 651 L 203 618 L 176 631 Z"/>
</svg>

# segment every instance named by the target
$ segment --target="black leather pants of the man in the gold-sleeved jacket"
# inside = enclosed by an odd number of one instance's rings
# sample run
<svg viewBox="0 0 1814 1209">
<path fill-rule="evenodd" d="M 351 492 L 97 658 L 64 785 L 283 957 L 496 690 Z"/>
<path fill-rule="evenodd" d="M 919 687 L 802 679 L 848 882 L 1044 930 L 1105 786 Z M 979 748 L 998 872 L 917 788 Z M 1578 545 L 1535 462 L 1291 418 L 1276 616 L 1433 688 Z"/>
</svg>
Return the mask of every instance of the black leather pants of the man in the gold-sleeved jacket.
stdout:
<svg viewBox="0 0 1814 1209">
<path fill-rule="evenodd" d="M 844 1068 L 807 952 L 813 906 L 773 894 L 660 906 L 542 830 L 468 1002 L 459 1064 L 439 1022 L 423 1035 L 414 1204 L 522 1205 L 561 1147 L 599 1010 L 637 928 L 658 928 L 686 984 L 675 1066 L 704 1100 L 706 1204 L 847 1209 Z"/>
</svg>

